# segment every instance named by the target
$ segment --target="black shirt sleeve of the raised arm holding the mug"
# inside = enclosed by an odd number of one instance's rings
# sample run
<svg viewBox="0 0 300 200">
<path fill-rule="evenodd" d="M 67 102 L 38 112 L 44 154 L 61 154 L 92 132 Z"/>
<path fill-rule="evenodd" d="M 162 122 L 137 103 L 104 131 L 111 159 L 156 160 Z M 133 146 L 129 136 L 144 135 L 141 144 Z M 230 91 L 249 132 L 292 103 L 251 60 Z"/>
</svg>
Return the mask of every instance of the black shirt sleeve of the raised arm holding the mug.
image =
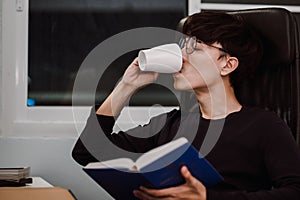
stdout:
<svg viewBox="0 0 300 200">
<path fill-rule="evenodd" d="M 133 153 L 144 153 L 156 147 L 158 137 L 170 115 L 170 113 L 161 114 L 152 118 L 145 126 L 113 133 L 115 118 L 96 115 L 95 110 L 93 107 L 85 128 L 73 148 L 72 156 L 81 165 L 100 159 L 131 157 Z M 135 159 L 138 154 L 132 156 L 131 158 Z"/>
</svg>

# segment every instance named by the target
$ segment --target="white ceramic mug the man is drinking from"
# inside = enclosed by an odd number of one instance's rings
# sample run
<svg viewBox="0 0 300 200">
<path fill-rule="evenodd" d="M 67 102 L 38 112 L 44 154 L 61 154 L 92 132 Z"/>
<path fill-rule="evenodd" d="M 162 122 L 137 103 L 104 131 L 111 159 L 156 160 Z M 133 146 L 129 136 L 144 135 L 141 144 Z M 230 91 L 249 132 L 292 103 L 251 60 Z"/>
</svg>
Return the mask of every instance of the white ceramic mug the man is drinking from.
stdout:
<svg viewBox="0 0 300 200">
<path fill-rule="evenodd" d="M 138 54 L 139 67 L 142 71 L 175 73 L 182 67 L 181 48 L 176 43 L 165 44 Z"/>
</svg>

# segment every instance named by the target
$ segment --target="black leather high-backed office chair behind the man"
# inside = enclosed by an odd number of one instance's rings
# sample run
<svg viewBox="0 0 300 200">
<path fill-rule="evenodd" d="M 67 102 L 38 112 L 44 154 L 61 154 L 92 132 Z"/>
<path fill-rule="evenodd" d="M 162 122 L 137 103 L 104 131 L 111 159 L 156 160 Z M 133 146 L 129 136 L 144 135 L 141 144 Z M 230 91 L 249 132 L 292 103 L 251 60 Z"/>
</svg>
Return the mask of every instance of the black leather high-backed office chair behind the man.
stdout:
<svg viewBox="0 0 300 200">
<path fill-rule="evenodd" d="M 260 36 L 264 55 L 254 76 L 236 90 L 242 105 L 258 106 L 275 112 L 290 127 L 300 144 L 299 35 L 292 13 L 282 8 L 258 8 L 228 12 L 239 15 Z M 181 30 L 185 19 L 179 22 Z M 183 109 L 195 108 L 191 93 L 183 93 Z M 194 98 L 194 97 L 193 97 Z M 187 102 L 192 102 L 187 104 Z"/>
</svg>

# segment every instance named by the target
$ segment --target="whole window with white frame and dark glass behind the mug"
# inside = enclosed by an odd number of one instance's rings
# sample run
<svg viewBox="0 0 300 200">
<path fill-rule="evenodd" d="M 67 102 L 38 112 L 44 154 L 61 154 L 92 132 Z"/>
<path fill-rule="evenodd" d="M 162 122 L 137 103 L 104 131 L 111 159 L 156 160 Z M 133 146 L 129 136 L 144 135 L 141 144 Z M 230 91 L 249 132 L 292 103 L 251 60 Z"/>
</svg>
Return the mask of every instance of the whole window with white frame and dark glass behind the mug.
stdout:
<svg viewBox="0 0 300 200">
<path fill-rule="evenodd" d="M 179 19 L 186 15 L 187 2 L 196 3 L 191 0 L 176 0 L 176 3 L 175 0 L 3 0 L 2 133 L 10 136 L 76 135 L 83 128 L 89 107 L 84 99 L 81 106 L 71 107 L 72 81 L 88 52 L 126 29 L 143 26 L 175 29 Z M 114 23 L 103 19 L 113 19 Z M 118 20 L 122 23 L 116 25 Z M 77 46 L 72 45 L 74 40 Z M 126 67 L 134 54 L 129 52 L 114 64 Z M 108 79 L 113 83 L 104 81 L 106 85 L 100 88 L 95 102 L 104 99 L 122 71 L 116 74 L 107 70 L 107 73 L 115 76 Z M 152 87 L 163 94 L 161 105 L 176 105 L 172 95 L 164 96 L 165 88 Z M 151 88 L 145 90 L 153 91 Z M 148 100 L 144 96 L 137 95 L 132 105 L 143 106 Z M 28 99 L 35 101 L 30 104 L 34 106 L 27 106 Z M 149 101 L 145 105 L 152 103 Z"/>
</svg>

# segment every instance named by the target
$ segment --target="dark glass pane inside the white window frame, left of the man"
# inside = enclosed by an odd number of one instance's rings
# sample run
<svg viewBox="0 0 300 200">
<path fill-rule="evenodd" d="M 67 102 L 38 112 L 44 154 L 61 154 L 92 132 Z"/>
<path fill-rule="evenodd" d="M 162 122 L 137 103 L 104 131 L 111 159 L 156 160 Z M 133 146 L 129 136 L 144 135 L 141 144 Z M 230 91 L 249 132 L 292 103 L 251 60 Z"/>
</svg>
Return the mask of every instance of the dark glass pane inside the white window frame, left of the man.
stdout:
<svg viewBox="0 0 300 200">
<path fill-rule="evenodd" d="M 182 0 L 30 0 L 28 98 L 34 100 L 31 105 L 72 105 L 76 73 L 99 43 L 139 27 L 175 30 L 179 20 L 186 15 L 185 4 Z M 137 51 L 122 55 L 107 67 L 100 79 L 96 102 L 103 101 L 110 93 Z M 172 86 L 172 80 L 168 82 Z M 83 106 L 86 105 L 85 95 L 89 94 L 78 95 Z M 132 98 L 131 105 L 151 106 L 155 102 L 177 105 L 172 93 L 158 85 L 139 92 Z"/>
</svg>

